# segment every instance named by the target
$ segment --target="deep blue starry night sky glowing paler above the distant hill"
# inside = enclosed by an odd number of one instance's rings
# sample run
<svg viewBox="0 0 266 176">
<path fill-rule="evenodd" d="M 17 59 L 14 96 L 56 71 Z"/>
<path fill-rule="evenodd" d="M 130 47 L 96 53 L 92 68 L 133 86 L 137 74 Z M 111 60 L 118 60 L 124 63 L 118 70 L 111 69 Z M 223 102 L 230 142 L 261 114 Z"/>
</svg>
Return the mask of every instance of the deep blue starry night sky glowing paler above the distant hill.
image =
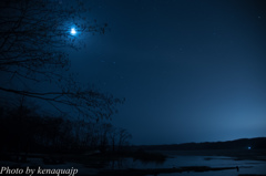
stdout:
<svg viewBox="0 0 266 176">
<path fill-rule="evenodd" d="M 71 52 L 81 82 L 125 97 L 133 144 L 266 136 L 266 2 L 95 0 L 105 34 Z"/>
</svg>

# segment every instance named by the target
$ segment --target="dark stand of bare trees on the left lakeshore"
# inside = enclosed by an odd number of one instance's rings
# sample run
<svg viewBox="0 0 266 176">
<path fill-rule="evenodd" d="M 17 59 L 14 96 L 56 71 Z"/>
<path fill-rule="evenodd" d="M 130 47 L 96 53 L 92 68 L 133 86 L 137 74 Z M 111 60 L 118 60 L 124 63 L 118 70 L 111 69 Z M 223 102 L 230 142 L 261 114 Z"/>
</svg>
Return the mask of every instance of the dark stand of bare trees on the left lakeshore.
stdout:
<svg viewBox="0 0 266 176">
<path fill-rule="evenodd" d="M 131 135 L 111 123 L 40 115 L 29 106 L 0 107 L 0 153 L 123 151 Z"/>
</svg>

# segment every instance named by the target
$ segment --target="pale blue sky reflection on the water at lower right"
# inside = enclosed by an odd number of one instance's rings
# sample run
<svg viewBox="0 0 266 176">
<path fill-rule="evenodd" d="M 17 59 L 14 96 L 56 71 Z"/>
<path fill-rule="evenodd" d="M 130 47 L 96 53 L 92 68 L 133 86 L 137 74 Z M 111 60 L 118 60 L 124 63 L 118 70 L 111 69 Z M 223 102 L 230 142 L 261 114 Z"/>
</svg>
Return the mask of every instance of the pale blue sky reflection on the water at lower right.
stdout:
<svg viewBox="0 0 266 176">
<path fill-rule="evenodd" d="M 183 166 L 209 166 L 209 167 L 239 167 L 237 169 L 204 172 L 204 173 L 173 173 L 160 174 L 160 176 L 237 176 L 238 174 L 266 174 L 266 162 L 260 161 L 235 161 L 225 156 L 173 156 L 164 163 L 144 163 L 132 158 L 121 158 L 109 163 L 108 168 L 173 168 Z"/>
</svg>

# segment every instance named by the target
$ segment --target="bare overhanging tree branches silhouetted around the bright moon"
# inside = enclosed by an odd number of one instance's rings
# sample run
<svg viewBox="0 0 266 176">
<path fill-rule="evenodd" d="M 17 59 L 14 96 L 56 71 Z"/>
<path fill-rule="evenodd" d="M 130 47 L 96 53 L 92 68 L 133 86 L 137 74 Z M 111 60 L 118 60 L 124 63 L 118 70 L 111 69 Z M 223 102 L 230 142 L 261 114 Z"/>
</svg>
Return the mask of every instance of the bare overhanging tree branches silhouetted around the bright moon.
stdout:
<svg viewBox="0 0 266 176">
<path fill-rule="evenodd" d="M 81 1 L 64 4 L 53 0 L 0 1 L 0 72 L 12 86 L 0 83 L 0 91 L 43 100 L 58 110 L 69 105 L 91 118 L 109 118 L 123 100 L 81 86 L 69 73 L 66 49 L 79 50 L 81 35 L 104 33 L 106 24 L 88 20 Z M 92 22 L 93 21 L 93 22 Z M 71 34 L 75 28 L 76 35 Z M 23 86 L 16 82 L 22 82 Z M 34 84 L 51 83 L 51 90 L 37 90 Z"/>
</svg>

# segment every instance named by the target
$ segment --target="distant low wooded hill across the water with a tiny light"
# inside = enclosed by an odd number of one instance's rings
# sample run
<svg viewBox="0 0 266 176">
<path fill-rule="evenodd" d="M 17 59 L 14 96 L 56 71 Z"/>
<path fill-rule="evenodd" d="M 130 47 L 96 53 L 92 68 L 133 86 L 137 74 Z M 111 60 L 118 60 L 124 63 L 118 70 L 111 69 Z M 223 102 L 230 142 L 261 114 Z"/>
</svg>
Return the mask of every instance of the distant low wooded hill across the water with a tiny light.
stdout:
<svg viewBox="0 0 266 176">
<path fill-rule="evenodd" d="M 172 145 L 139 146 L 143 149 L 158 151 L 201 151 L 201 149 L 266 149 L 266 137 L 241 138 L 226 142 L 184 143 Z"/>
</svg>

